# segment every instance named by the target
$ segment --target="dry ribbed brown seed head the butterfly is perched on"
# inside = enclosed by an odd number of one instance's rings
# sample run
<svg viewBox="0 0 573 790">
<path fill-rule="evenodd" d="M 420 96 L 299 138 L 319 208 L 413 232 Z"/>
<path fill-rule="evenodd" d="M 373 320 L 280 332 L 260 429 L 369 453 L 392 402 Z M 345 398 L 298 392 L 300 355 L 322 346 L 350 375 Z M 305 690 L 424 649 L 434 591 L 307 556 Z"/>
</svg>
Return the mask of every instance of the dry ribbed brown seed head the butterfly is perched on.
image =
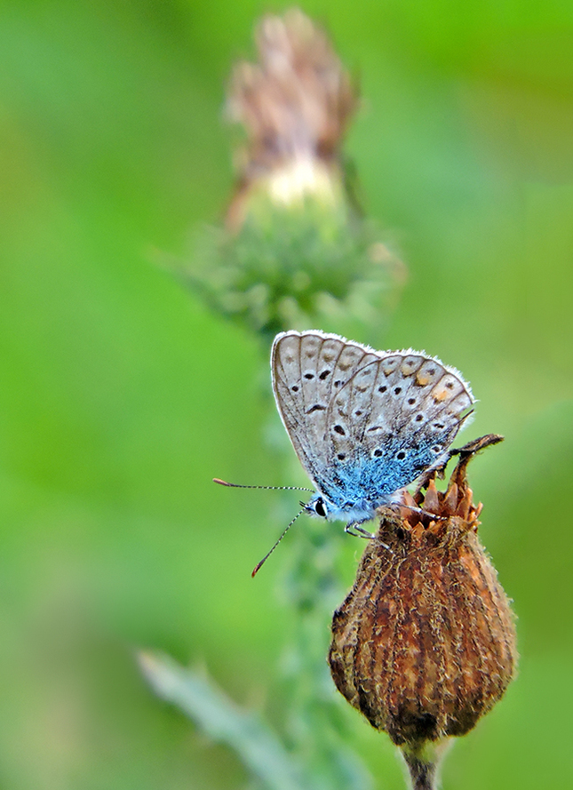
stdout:
<svg viewBox="0 0 573 790">
<path fill-rule="evenodd" d="M 427 742 L 471 730 L 513 677 L 513 613 L 478 540 L 481 505 L 466 479 L 474 453 L 500 439 L 466 445 L 447 491 L 432 476 L 426 494 L 410 501 L 424 513 L 386 511 L 334 613 L 334 682 L 373 727 L 406 747 L 410 771 L 412 762 L 418 772 L 424 766 Z"/>
</svg>

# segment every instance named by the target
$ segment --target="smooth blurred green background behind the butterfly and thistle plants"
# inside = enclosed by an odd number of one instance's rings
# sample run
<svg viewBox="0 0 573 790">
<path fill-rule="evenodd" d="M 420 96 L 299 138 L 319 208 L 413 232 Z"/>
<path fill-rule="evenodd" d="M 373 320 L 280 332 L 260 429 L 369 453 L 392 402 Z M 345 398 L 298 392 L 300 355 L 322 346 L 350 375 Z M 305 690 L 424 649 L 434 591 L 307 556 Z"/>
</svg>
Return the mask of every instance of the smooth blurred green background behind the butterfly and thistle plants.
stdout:
<svg viewBox="0 0 573 790">
<path fill-rule="evenodd" d="M 357 339 L 455 364 L 480 399 L 464 437 L 506 436 L 473 483 L 520 675 L 443 786 L 571 786 L 573 6 L 301 7 L 360 75 L 346 152 L 410 269 L 389 331 Z M 3 788 L 246 786 L 232 754 L 153 697 L 133 646 L 278 715 L 288 549 L 250 571 L 281 524 L 270 493 L 211 477 L 298 481 L 277 479 L 261 442 L 255 341 L 163 266 L 225 209 L 224 83 L 267 10 L 0 7 Z M 360 548 L 345 548 L 348 584 Z M 401 788 L 387 738 L 357 714 L 354 730 L 376 786 Z"/>
</svg>

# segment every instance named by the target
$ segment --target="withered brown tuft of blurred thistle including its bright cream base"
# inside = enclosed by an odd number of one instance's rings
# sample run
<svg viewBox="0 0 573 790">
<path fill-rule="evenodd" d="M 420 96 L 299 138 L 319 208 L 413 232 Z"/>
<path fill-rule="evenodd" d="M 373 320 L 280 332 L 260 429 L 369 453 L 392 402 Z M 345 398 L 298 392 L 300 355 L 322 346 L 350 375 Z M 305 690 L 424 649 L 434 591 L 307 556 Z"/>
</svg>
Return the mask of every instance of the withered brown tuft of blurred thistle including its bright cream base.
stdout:
<svg viewBox="0 0 573 790">
<path fill-rule="evenodd" d="M 228 115 L 247 144 L 236 162 L 240 185 L 227 221 L 239 227 L 244 198 L 267 180 L 277 203 L 306 194 L 338 201 L 338 151 L 357 105 L 354 85 L 328 36 L 298 9 L 267 16 L 256 30 L 259 63 L 235 66 Z"/>
</svg>

